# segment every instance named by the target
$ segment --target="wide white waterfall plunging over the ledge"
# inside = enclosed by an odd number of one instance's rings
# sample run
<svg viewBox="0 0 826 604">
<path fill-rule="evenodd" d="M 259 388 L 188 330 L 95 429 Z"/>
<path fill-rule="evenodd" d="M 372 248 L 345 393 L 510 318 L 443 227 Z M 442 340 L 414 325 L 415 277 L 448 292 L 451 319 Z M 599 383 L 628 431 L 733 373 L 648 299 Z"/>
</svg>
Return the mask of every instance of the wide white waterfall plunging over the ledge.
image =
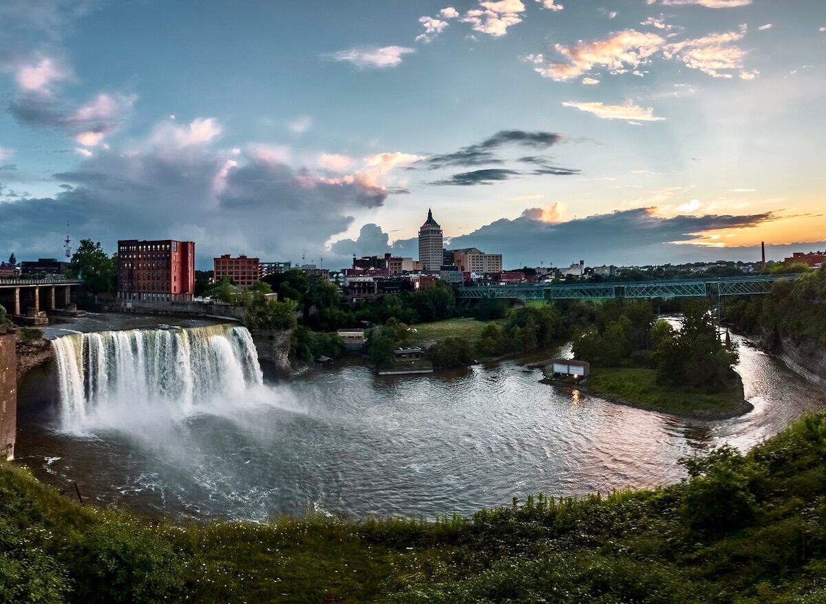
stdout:
<svg viewBox="0 0 826 604">
<path fill-rule="evenodd" d="M 249 331 L 232 324 L 72 333 L 52 347 L 69 431 L 124 412 L 126 421 L 154 410 L 186 415 L 208 401 L 238 401 L 263 382 Z"/>
</svg>

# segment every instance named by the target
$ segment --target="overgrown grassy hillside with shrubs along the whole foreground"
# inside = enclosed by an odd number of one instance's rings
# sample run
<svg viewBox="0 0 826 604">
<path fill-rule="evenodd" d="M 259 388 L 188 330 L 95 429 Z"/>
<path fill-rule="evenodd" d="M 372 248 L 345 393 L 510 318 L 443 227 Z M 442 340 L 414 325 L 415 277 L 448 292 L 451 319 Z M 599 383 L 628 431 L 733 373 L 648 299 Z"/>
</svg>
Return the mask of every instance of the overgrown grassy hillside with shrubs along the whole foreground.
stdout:
<svg viewBox="0 0 826 604">
<path fill-rule="evenodd" d="M 686 468 L 434 523 L 175 525 L 0 465 L 0 602 L 826 602 L 826 416 Z"/>
</svg>

